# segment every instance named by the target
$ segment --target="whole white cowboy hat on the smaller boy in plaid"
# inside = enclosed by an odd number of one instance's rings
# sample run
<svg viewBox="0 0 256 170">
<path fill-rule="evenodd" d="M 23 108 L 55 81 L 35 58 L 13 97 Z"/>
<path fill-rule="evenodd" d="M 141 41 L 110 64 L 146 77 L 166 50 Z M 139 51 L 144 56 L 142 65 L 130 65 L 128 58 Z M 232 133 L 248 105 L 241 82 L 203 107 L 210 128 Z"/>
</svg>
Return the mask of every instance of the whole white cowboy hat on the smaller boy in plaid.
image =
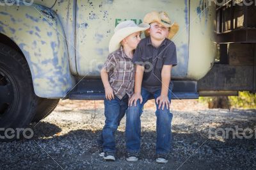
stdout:
<svg viewBox="0 0 256 170">
<path fill-rule="evenodd" d="M 125 20 L 124 22 L 120 22 L 115 27 L 114 35 L 110 39 L 109 52 L 111 53 L 119 49 L 120 42 L 122 42 L 122 40 L 124 40 L 124 38 L 126 38 L 127 36 L 138 31 L 145 31 L 149 27 L 149 24 L 145 23 L 142 23 L 137 26 L 133 20 Z"/>
</svg>

